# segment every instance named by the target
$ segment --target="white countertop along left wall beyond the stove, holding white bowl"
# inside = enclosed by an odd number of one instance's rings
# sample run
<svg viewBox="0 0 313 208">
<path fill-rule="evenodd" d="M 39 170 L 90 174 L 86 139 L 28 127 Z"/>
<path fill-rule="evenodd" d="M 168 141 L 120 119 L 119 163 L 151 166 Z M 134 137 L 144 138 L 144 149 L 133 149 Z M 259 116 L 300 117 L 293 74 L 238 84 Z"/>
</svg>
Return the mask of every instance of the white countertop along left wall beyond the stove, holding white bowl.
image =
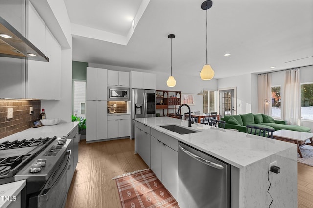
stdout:
<svg viewBox="0 0 313 208">
<path fill-rule="evenodd" d="M 41 126 L 37 128 L 29 128 L 22 132 L 12 134 L 10 136 L 0 139 L 0 142 L 4 141 L 14 141 L 14 140 L 23 140 L 23 139 L 38 139 L 39 137 L 62 137 L 66 136 L 73 128 L 78 125 L 78 121 L 59 123 L 52 126 Z"/>
</svg>

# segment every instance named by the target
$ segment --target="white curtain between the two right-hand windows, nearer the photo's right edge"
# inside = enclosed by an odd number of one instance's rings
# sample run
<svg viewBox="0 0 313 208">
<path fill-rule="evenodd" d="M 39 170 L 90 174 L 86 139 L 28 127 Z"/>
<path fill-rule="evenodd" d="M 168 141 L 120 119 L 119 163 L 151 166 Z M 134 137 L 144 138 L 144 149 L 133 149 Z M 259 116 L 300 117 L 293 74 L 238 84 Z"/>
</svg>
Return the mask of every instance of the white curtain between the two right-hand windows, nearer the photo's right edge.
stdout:
<svg viewBox="0 0 313 208">
<path fill-rule="evenodd" d="M 301 125 L 300 69 L 285 71 L 284 93 L 282 96 L 282 119 L 288 124 Z"/>
</svg>

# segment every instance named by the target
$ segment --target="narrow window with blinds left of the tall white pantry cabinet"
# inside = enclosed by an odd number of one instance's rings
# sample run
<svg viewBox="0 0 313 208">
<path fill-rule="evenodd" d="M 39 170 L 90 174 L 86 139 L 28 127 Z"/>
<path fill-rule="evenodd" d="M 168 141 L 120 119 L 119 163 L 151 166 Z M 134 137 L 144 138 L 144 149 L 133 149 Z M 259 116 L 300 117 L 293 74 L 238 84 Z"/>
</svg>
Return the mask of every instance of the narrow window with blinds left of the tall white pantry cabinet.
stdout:
<svg viewBox="0 0 313 208">
<path fill-rule="evenodd" d="M 86 81 L 73 80 L 73 115 L 86 117 Z"/>
</svg>

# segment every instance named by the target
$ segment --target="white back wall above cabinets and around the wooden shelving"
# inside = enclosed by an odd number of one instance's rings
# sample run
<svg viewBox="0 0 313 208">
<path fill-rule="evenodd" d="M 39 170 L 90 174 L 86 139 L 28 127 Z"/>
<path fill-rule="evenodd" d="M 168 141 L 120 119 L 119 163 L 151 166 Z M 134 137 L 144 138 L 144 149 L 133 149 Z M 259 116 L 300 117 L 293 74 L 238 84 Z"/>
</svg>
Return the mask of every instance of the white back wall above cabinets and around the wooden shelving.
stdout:
<svg viewBox="0 0 313 208">
<path fill-rule="evenodd" d="M 201 90 L 201 78 L 199 75 L 200 72 L 195 71 L 195 76 L 173 74 L 176 80 L 176 86 L 168 87 L 166 85 L 166 81 L 169 77 L 169 73 L 128 68 L 128 67 L 95 64 L 95 63 L 88 63 L 88 66 L 95 67 L 95 68 L 103 68 L 103 69 L 108 69 L 108 70 L 116 70 L 116 71 L 128 71 L 128 72 L 141 71 L 141 72 L 154 73 L 156 74 L 156 90 L 173 90 L 173 91 L 181 91 L 182 93 L 195 94 L 195 105 L 191 105 L 190 109 L 191 111 L 200 111 L 200 113 L 203 113 L 203 96 L 197 95 L 197 93 L 199 93 Z M 204 88 L 205 90 L 217 90 L 217 80 L 212 79 L 209 81 L 202 81 L 202 88 Z M 182 112 L 187 112 L 187 108 L 183 107 Z M 160 112 L 156 112 L 156 113 L 160 113 Z"/>
</svg>

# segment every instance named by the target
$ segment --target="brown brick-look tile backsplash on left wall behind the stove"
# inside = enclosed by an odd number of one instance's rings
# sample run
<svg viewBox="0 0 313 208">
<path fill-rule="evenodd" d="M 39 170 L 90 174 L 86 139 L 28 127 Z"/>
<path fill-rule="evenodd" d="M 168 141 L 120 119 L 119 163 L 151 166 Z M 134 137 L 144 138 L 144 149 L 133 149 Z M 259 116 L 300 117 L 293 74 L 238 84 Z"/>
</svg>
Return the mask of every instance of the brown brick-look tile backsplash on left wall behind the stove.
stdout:
<svg viewBox="0 0 313 208">
<path fill-rule="evenodd" d="M 33 114 L 29 114 L 29 107 Z M 8 119 L 8 108 L 13 108 L 13 118 Z M 40 100 L 0 100 L 0 139 L 30 128 L 39 119 Z M 22 138 L 21 138 L 22 139 Z"/>
</svg>

